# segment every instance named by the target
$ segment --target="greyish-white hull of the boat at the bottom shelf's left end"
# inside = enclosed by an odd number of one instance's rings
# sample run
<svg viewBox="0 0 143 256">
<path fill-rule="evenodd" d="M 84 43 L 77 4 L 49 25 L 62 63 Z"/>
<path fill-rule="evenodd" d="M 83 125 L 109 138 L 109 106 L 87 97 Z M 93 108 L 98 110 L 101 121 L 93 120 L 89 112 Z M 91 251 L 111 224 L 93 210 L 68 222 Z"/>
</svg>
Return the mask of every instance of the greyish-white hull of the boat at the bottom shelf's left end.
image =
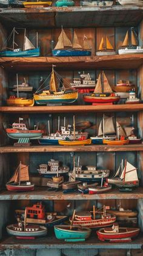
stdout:
<svg viewBox="0 0 143 256">
<path fill-rule="evenodd" d="M 18 231 L 18 230 L 13 230 L 13 225 L 7 226 L 7 233 L 9 235 L 14 235 L 14 236 L 44 236 L 47 235 L 47 228 L 43 226 L 39 226 L 38 231 Z"/>
</svg>

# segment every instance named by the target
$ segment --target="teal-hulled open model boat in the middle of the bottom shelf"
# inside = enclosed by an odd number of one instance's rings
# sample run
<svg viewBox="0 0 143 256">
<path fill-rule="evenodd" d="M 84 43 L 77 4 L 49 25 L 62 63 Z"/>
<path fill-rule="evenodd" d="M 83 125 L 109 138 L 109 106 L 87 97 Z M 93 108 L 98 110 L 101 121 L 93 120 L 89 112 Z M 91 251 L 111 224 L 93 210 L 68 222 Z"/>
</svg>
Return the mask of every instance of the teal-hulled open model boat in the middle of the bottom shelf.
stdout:
<svg viewBox="0 0 143 256">
<path fill-rule="evenodd" d="M 68 225 L 58 225 L 54 227 L 56 238 L 67 242 L 85 241 L 90 236 L 91 229 L 87 227 L 74 226 L 70 230 Z"/>
</svg>

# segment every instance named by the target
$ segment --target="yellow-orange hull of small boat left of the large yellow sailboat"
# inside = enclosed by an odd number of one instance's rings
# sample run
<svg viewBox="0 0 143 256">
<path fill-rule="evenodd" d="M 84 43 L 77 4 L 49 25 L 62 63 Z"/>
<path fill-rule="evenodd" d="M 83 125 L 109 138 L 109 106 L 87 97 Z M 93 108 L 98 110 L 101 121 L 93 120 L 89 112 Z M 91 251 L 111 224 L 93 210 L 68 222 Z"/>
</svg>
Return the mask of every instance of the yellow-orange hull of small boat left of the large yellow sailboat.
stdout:
<svg viewBox="0 0 143 256">
<path fill-rule="evenodd" d="M 15 98 L 7 99 L 7 105 L 18 107 L 33 107 L 35 104 L 34 99 Z"/>
</svg>

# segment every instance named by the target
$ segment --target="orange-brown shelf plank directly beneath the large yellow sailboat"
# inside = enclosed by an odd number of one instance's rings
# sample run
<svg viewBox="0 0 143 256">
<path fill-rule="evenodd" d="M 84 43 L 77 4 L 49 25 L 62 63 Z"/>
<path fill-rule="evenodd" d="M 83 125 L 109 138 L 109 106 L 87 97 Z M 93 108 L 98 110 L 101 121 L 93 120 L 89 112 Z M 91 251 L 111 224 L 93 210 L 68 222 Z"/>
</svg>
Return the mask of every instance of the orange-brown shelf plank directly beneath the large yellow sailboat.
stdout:
<svg viewBox="0 0 143 256">
<path fill-rule="evenodd" d="M 2 113 L 139 112 L 143 104 L 0 107 Z"/>
</svg>

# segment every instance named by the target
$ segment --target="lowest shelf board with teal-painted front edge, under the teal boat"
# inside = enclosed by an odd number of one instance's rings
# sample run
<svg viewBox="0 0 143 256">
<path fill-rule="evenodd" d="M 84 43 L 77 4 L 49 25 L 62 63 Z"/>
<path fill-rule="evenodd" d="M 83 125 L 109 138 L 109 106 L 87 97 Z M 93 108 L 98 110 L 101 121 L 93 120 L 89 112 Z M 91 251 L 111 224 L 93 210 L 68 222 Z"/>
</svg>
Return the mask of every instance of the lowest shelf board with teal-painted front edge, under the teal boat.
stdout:
<svg viewBox="0 0 143 256">
<path fill-rule="evenodd" d="M 96 231 L 93 230 L 90 238 L 87 241 L 68 243 L 56 239 L 51 232 L 47 236 L 36 238 L 35 240 L 18 240 L 14 236 L 4 238 L 0 243 L 1 251 L 6 249 L 142 249 L 143 235 L 131 241 L 131 243 L 108 243 L 101 242 L 96 236 Z"/>
</svg>

